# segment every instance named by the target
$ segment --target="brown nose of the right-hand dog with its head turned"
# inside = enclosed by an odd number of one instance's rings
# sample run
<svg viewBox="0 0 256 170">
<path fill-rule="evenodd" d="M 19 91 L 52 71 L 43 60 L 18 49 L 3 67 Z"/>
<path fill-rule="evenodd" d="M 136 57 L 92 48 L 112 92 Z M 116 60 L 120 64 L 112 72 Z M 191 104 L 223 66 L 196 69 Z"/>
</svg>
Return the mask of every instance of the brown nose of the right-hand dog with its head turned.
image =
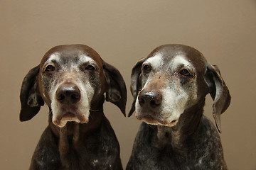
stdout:
<svg viewBox="0 0 256 170">
<path fill-rule="evenodd" d="M 139 93 L 139 105 L 146 108 L 158 108 L 162 101 L 162 95 L 158 91 L 142 90 Z"/>
</svg>

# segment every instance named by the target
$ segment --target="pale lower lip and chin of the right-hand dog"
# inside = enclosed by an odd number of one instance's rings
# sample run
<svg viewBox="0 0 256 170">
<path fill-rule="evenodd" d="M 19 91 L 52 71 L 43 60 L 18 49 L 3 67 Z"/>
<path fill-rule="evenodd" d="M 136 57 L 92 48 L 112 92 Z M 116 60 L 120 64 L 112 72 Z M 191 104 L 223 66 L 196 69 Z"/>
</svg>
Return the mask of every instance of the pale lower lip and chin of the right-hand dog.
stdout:
<svg viewBox="0 0 256 170">
<path fill-rule="evenodd" d="M 178 119 L 169 120 L 169 121 L 160 120 L 160 119 L 153 118 L 151 115 L 138 116 L 137 114 L 135 114 L 135 117 L 138 120 L 142 120 L 144 123 L 147 123 L 149 125 L 164 125 L 167 127 L 173 127 L 178 123 Z"/>
</svg>

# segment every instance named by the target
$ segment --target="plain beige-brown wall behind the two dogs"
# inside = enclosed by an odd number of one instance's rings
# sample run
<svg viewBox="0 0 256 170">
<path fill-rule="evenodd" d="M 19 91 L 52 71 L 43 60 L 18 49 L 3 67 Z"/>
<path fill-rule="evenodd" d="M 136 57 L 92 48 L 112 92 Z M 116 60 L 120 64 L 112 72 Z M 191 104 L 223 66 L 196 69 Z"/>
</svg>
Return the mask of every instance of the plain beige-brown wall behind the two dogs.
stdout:
<svg viewBox="0 0 256 170">
<path fill-rule="evenodd" d="M 23 77 L 51 47 L 74 43 L 89 45 L 119 69 L 127 84 L 127 113 L 131 69 L 139 58 L 166 43 L 196 47 L 220 67 L 232 95 L 220 134 L 228 167 L 256 169 L 253 0 L 0 0 L 0 169 L 28 169 L 48 124 L 46 106 L 32 120 L 19 122 Z M 205 114 L 211 119 L 212 103 L 208 96 Z M 134 115 L 124 118 L 112 103 L 105 103 L 105 115 L 116 132 L 125 167 L 141 122 Z"/>
</svg>

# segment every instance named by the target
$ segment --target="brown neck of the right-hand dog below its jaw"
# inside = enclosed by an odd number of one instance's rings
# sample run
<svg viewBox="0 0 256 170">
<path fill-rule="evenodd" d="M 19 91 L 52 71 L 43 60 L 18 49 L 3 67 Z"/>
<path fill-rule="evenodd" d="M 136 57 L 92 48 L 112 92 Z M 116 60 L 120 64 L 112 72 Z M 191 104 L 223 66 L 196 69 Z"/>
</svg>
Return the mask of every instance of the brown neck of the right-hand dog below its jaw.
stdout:
<svg viewBox="0 0 256 170">
<path fill-rule="evenodd" d="M 174 127 L 163 125 L 157 126 L 156 147 L 164 149 L 166 145 L 170 145 L 176 152 L 183 152 L 186 139 L 193 135 L 198 130 L 198 125 L 203 115 L 203 106 L 205 99 L 199 102 L 196 106 L 189 108 L 181 114 L 178 123 Z"/>
</svg>

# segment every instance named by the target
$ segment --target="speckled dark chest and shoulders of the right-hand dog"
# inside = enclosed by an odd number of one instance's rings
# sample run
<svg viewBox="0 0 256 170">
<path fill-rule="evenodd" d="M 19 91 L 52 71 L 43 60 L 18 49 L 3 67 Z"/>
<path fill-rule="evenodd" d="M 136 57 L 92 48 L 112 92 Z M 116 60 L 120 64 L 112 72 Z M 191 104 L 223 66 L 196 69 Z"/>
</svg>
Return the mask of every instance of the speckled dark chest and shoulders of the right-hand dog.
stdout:
<svg viewBox="0 0 256 170">
<path fill-rule="evenodd" d="M 166 136 L 159 140 L 157 126 L 142 123 L 134 141 L 132 156 L 127 164 L 130 169 L 227 169 L 218 131 L 203 116 L 198 130 L 176 145 L 172 142 L 175 132 L 166 128 Z M 166 140 L 163 145 L 163 140 Z"/>
</svg>

